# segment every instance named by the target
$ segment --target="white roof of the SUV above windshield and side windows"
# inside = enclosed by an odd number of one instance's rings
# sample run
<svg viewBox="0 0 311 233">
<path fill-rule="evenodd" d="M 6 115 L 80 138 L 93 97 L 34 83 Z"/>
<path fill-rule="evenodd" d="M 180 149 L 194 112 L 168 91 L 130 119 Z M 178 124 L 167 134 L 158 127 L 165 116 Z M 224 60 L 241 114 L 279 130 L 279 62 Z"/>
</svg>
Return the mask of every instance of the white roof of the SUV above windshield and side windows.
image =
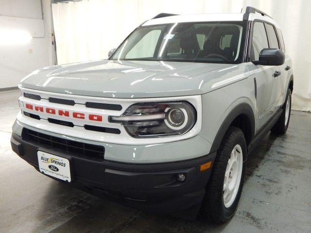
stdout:
<svg viewBox="0 0 311 233">
<path fill-rule="evenodd" d="M 196 14 L 196 15 L 176 15 L 150 19 L 143 23 L 142 26 L 166 24 L 166 23 L 181 23 L 181 22 L 212 22 L 212 21 L 242 21 L 244 13 L 218 13 L 218 14 Z M 268 16 L 250 13 L 249 20 L 261 19 L 276 25 L 278 24 Z"/>
</svg>

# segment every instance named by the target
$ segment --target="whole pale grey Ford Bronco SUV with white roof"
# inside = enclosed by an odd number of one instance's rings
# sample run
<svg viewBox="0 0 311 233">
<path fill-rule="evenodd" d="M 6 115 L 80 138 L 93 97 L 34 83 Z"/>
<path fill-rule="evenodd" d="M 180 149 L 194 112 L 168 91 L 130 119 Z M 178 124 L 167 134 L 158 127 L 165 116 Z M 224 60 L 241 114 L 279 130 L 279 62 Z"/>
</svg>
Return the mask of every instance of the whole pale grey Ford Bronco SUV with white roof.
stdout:
<svg viewBox="0 0 311 233">
<path fill-rule="evenodd" d="M 160 14 L 107 60 L 21 80 L 12 149 L 41 173 L 155 213 L 234 215 L 247 155 L 285 133 L 293 69 L 278 24 L 244 14 Z"/>
</svg>

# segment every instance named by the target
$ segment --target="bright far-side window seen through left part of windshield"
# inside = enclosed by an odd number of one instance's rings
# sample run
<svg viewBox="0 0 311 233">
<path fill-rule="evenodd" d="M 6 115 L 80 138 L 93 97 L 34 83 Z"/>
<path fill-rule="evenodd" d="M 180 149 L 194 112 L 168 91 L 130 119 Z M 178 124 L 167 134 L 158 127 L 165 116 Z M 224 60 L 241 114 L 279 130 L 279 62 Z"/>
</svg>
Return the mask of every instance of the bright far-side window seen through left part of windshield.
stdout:
<svg viewBox="0 0 311 233">
<path fill-rule="evenodd" d="M 155 46 L 161 34 L 161 30 L 153 30 L 145 34 L 138 43 L 125 55 L 125 58 L 153 57 Z"/>
</svg>

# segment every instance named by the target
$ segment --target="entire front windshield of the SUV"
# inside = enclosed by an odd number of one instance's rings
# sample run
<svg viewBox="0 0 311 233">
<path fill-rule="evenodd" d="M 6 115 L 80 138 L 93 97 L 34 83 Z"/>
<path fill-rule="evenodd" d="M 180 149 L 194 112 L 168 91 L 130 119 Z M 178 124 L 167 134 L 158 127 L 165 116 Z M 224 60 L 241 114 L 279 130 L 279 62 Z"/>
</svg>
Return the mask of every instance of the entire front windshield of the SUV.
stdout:
<svg viewBox="0 0 311 233">
<path fill-rule="evenodd" d="M 111 60 L 241 63 L 244 24 L 187 22 L 139 27 Z"/>
</svg>

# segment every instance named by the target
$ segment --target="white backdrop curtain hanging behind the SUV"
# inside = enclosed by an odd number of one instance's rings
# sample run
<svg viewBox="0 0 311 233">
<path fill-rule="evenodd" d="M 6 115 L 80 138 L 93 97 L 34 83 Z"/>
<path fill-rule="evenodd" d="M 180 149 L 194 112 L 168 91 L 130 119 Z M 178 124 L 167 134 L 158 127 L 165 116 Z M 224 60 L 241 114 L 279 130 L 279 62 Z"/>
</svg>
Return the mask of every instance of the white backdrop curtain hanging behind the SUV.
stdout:
<svg viewBox="0 0 311 233">
<path fill-rule="evenodd" d="M 280 24 L 293 59 L 293 109 L 311 111 L 311 0 L 81 0 L 52 4 L 58 64 L 104 59 L 158 13 L 240 13 L 256 7 Z"/>
</svg>

